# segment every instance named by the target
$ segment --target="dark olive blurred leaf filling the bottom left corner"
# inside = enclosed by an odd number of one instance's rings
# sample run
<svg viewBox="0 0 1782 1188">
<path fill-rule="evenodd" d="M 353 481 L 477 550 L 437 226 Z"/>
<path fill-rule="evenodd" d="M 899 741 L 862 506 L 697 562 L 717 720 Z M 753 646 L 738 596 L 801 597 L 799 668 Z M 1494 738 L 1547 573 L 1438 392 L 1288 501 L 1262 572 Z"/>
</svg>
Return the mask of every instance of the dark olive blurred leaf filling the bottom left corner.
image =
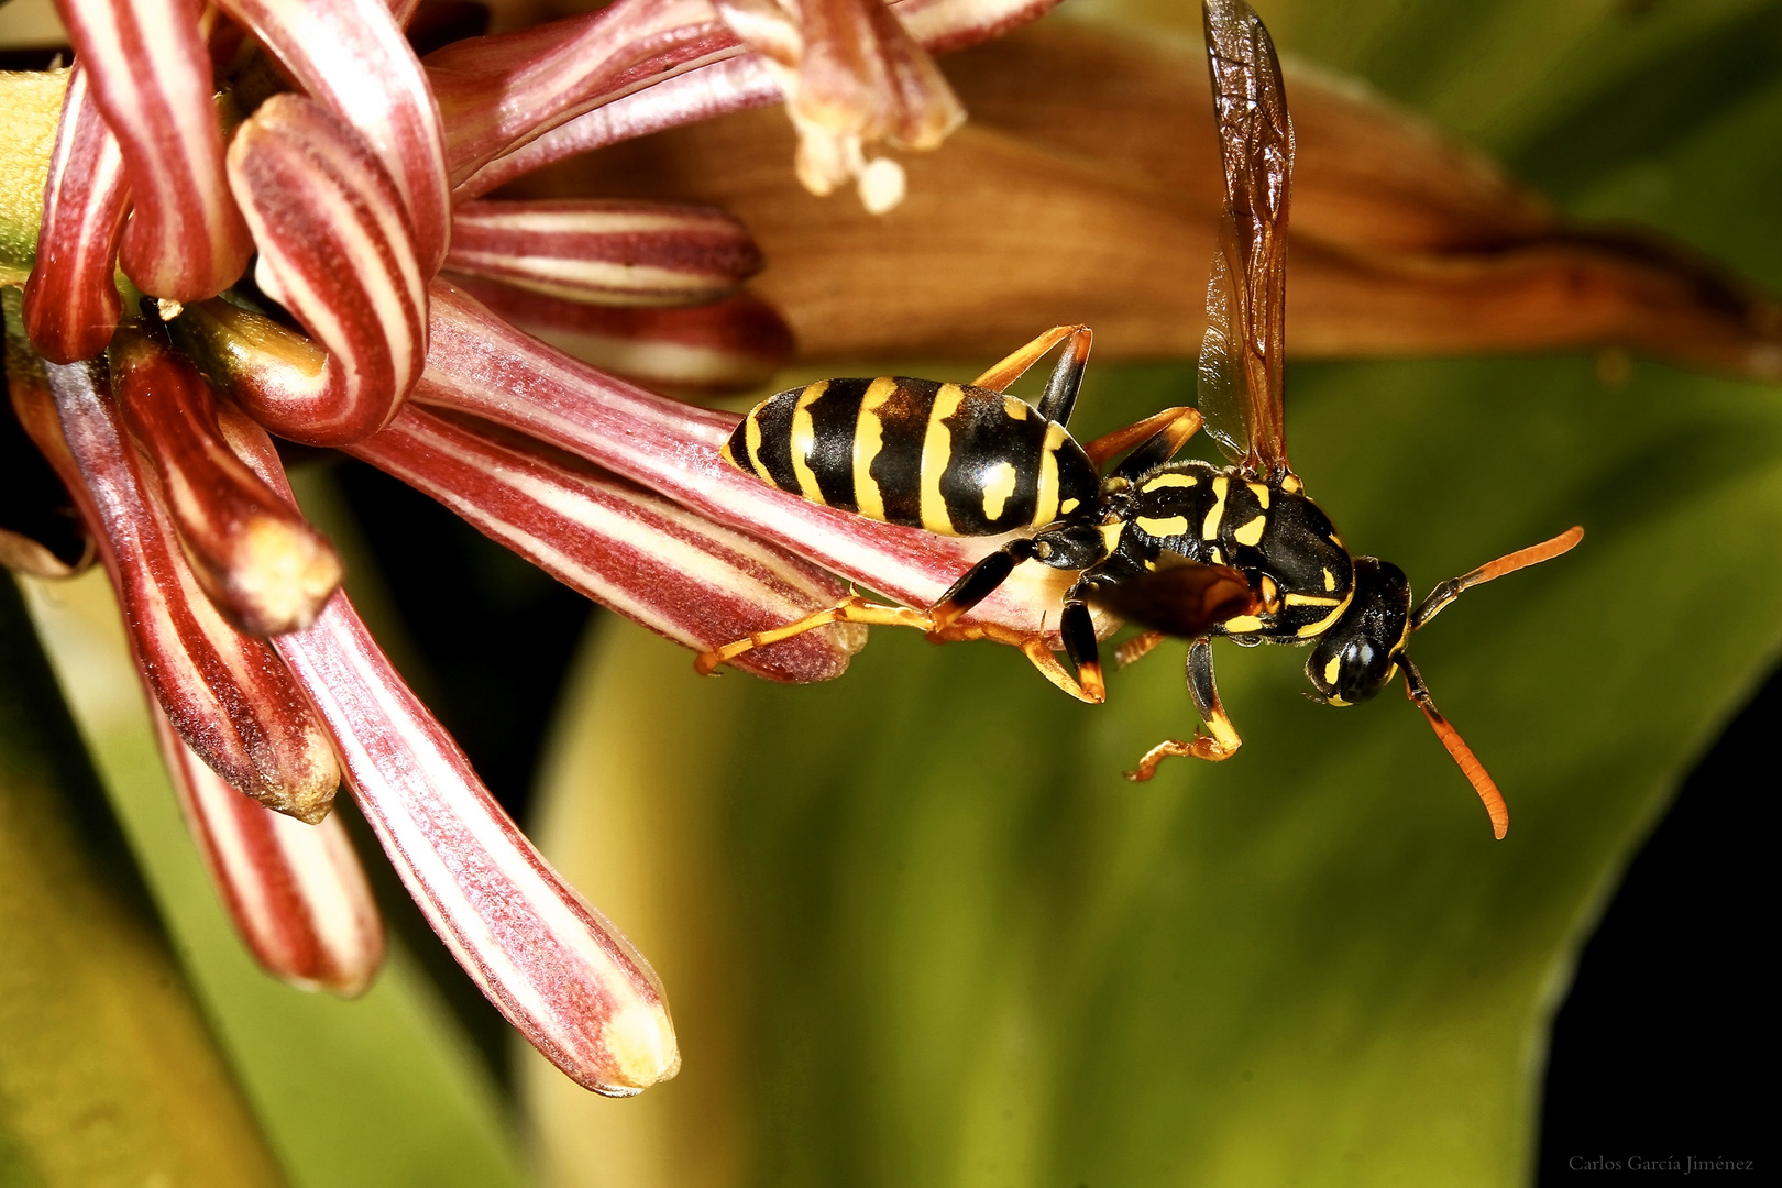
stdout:
<svg viewBox="0 0 1782 1188">
<path fill-rule="evenodd" d="M 283 1183 L 0 581 L 0 1184 Z"/>
</svg>

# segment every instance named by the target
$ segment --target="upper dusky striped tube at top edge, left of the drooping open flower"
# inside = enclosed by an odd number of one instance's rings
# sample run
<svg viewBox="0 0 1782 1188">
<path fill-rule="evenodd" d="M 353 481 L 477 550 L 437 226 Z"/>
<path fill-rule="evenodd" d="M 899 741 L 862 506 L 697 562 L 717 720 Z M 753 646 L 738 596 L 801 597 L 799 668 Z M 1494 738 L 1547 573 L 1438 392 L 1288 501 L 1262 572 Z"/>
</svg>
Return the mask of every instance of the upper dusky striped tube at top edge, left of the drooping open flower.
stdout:
<svg viewBox="0 0 1782 1188">
<path fill-rule="evenodd" d="M 429 53 L 453 182 L 615 94 L 731 53 L 707 0 L 618 0 Z"/>
</svg>

